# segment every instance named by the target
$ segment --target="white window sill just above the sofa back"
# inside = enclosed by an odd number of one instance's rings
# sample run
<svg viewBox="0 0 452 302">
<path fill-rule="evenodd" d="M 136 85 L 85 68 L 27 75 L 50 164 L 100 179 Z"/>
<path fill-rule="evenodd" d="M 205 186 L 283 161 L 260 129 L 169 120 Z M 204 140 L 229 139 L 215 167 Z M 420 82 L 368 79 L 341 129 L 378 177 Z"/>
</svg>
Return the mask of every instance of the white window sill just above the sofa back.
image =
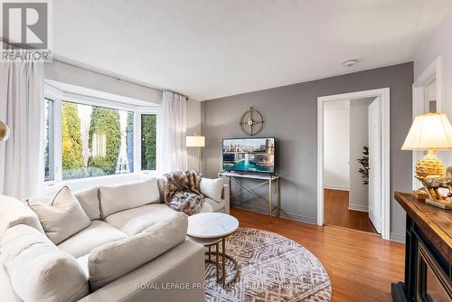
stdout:
<svg viewBox="0 0 452 302">
<path fill-rule="evenodd" d="M 87 178 L 78 178 L 64 180 L 61 182 L 48 181 L 44 183 L 43 193 L 45 196 L 54 195 L 62 186 L 68 186 L 72 192 L 88 190 L 95 186 L 101 185 L 119 185 L 127 184 L 134 181 L 144 180 L 149 177 L 157 176 L 156 171 L 142 171 L 139 173 L 131 173 L 125 175 L 105 175 Z"/>
</svg>

